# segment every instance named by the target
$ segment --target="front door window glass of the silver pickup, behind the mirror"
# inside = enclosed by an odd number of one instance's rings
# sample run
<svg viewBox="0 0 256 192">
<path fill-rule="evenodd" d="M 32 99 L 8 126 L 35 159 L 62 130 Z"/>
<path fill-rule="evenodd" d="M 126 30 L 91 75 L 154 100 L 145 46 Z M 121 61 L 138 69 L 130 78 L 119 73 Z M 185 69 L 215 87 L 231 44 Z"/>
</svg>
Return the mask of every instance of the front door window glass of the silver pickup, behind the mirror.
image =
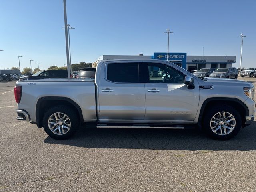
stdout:
<svg viewBox="0 0 256 192">
<path fill-rule="evenodd" d="M 171 66 L 160 63 L 148 63 L 149 83 L 184 83 L 185 75 Z"/>
</svg>

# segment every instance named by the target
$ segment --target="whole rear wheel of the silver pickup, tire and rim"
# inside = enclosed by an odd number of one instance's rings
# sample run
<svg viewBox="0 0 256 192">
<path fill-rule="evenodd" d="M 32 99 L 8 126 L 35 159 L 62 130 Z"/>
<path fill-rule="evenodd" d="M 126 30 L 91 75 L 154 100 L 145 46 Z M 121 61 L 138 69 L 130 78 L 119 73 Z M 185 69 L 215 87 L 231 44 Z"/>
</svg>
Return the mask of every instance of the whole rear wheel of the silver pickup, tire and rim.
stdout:
<svg viewBox="0 0 256 192">
<path fill-rule="evenodd" d="M 63 105 L 49 108 L 43 117 L 45 132 L 54 139 L 70 138 L 80 124 L 76 111 Z"/>
</svg>

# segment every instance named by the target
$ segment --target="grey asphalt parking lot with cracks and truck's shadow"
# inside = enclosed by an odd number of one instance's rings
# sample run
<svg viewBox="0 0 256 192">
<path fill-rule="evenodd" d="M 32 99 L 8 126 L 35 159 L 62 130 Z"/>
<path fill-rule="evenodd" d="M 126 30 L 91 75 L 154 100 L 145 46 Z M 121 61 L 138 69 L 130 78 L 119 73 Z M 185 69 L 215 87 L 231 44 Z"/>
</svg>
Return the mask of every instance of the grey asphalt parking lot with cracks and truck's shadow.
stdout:
<svg viewBox="0 0 256 192">
<path fill-rule="evenodd" d="M 54 140 L 16 120 L 14 85 L 0 82 L 0 191 L 256 191 L 255 121 L 228 141 L 93 127 Z"/>
</svg>

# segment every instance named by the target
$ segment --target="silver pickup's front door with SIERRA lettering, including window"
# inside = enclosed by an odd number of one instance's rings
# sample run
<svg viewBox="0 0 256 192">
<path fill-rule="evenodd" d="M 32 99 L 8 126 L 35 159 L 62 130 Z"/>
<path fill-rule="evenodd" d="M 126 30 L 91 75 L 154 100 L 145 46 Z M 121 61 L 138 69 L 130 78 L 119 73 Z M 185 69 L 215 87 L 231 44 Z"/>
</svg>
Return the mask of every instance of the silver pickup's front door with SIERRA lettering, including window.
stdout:
<svg viewBox="0 0 256 192">
<path fill-rule="evenodd" d="M 145 67 L 145 65 L 144 65 Z M 188 89 L 184 84 L 185 75 L 170 65 L 146 63 L 144 70 L 164 71 L 163 76 L 145 79 L 145 120 L 187 120 L 196 117 L 199 103 L 199 85 Z"/>
</svg>

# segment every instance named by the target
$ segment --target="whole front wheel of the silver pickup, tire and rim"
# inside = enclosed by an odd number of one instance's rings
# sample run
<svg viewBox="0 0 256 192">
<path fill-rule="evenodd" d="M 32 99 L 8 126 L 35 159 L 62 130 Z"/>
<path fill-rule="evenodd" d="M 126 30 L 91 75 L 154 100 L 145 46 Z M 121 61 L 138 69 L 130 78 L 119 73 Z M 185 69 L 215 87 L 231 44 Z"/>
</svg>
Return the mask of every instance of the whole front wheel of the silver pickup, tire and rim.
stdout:
<svg viewBox="0 0 256 192">
<path fill-rule="evenodd" d="M 216 140 L 228 140 L 238 134 L 242 126 L 238 111 L 229 105 L 215 106 L 206 112 L 203 127 Z"/>
</svg>

